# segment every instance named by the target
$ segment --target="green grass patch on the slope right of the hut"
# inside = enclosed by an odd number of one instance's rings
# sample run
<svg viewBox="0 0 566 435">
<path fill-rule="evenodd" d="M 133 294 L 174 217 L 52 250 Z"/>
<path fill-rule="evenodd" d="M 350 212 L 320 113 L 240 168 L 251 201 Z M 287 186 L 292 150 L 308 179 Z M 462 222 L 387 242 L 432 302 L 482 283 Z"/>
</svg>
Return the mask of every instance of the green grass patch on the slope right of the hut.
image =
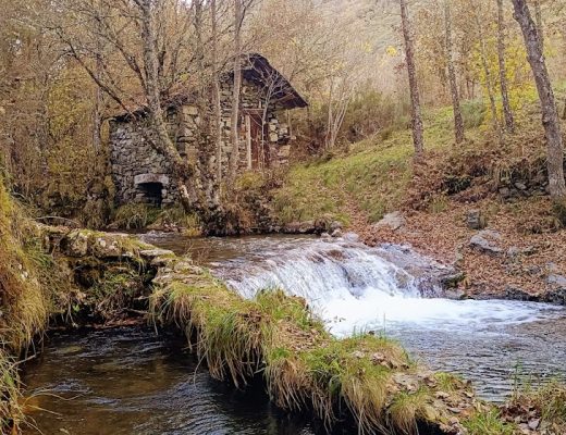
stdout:
<svg viewBox="0 0 566 435">
<path fill-rule="evenodd" d="M 466 108 L 469 123 L 481 119 L 481 104 Z M 450 108 L 427 114 L 429 151 L 452 145 L 451 116 Z M 348 223 L 350 213 L 359 208 L 370 222 L 377 222 L 406 198 L 413 179 L 413 154 L 408 129 L 386 130 L 353 145 L 347 153 L 298 164 L 275 191 L 275 214 L 284 223 L 323 215 Z"/>
</svg>

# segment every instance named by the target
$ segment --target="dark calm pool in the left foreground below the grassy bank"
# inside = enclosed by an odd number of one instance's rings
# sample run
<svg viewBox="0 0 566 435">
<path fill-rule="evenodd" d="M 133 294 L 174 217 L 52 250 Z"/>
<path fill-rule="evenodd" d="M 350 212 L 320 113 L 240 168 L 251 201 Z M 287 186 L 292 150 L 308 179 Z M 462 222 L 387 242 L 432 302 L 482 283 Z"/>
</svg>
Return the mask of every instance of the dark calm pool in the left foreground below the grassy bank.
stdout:
<svg viewBox="0 0 566 435">
<path fill-rule="evenodd" d="M 150 328 L 53 334 L 26 368 L 32 418 L 46 435 L 313 435 L 261 388 L 212 380 L 183 340 Z"/>
</svg>

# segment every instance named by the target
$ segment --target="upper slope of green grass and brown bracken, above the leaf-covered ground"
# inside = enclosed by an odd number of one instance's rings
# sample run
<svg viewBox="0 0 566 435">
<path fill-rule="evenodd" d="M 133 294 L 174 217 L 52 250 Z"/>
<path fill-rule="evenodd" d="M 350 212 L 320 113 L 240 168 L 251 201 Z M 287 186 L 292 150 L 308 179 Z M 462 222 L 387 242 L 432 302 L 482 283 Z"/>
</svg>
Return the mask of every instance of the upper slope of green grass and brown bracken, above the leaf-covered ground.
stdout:
<svg viewBox="0 0 566 435">
<path fill-rule="evenodd" d="M 556 92 L 563 98 L 565 85 Z M 466 141 L 458 147 L 454 145 L 452 109 L 427 110 L 427 154 L 421 167 L 413 164 L 408 126 L 381 132 L 349 145 L 346 151 L 295 164 L 274 192 L 275 215 L 283 223 L 324 215 L 346 224 L 360 216 L 374 223 L 384 213 L 423 207 L 422 202 L 430 210 L 442 208 L 446 196 L 487 178 L 494 186 L 506 186 L 526 171 L 544 171 L 544 137 L 534 91 L 524 99 L 515 112 L 517 132 L 506 135 L 503 144 L 485 120 L 480 101 L 463 105 Z"/>
</svg>

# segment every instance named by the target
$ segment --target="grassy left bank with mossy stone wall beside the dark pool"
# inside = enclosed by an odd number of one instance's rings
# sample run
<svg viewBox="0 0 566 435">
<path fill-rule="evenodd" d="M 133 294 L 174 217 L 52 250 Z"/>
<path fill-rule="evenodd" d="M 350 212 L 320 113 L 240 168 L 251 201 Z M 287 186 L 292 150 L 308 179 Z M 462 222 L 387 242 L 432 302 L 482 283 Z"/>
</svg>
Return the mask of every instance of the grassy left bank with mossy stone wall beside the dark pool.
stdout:
<svg viewBox="0 0 566 435">
<path fill-rule="evenodd" d="M 50 253 L 50 238 L 64 252 Z M 132 303 L 145 284 L 138 256 L 147 248 L 152 247 L 128 237 L 41 227 L 0 179 L 0 433 L 17 431 L 23 422 L 17 357 L 57 314 L 74 324 L 77 307 L 88 306 L 106 319 Z M 106 256 L 106 264 L 97 256 Z"/>
</svg>

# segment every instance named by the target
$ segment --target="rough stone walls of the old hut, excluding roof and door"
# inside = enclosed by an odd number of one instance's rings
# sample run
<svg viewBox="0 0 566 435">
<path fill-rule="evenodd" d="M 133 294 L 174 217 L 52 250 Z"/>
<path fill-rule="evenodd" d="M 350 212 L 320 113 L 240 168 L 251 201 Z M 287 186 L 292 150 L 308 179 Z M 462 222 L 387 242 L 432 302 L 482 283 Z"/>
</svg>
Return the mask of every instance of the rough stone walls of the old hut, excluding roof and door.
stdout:
<svg viewBox="0 0 566 435">
<path fill-rule="evenodd" d="M 224 176 L 227 173 L 230 156 L 232 154 L 232 98 L 231 80 L 221 85 L 222 108 L 222 167 Z M 278 113 L 282 108 L 269 103 L 264 110 L 266 91 L 262 87 L 244 79 L 241 92 L 239 128 L 239 170 L 249 170 L 249 153 L 247 140 L 246 115 L 263 119 L 263 142 L 269 154 L 269 167 L 276 167 L 288 162 L 291 151 L 290 129 L 280 122 Z M 204 132 L 204 116 L 196 105 L 183 104 L 169 109 L 168 123 L 171 137 L 177 145 L 181 156 L 197 163 L 200 156 Z M 251 121 L 250 121 L 251 122 Z M 171 186 L 170 164 L 167 159 L 157 153 L 147 137 L 150 133 L 144 120 L 126 121 L 115 119 L 110 124 L 110 163 L 112 177 L 116 187 L 116 202 L 155 202 L 156 187 L 161 184 L 160 206 L 173 203 L 176 191 Z M 211 157 L 211 166 L 216 166 L 216 152 Z M 263 164 L 261 164 L 262 166 Z M 263 169 L 263 167 L 254 167 Z"/>
</svg>

